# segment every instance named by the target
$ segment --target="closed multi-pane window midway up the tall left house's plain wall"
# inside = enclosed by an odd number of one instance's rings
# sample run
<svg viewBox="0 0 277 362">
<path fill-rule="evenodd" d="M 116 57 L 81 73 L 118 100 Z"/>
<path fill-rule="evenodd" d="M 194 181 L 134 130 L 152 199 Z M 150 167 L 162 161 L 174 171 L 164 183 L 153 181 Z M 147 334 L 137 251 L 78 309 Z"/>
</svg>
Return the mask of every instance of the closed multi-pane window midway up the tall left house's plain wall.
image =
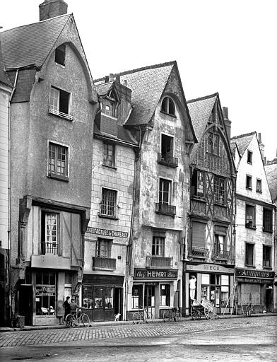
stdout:
<svg viewBox="0 0 277 362">
<path fill-rule="evenodd" d="M 49 177 L 69 180 L 69 149 L 59 144 L 49 143 L 48 175 Z"/>
</svg>

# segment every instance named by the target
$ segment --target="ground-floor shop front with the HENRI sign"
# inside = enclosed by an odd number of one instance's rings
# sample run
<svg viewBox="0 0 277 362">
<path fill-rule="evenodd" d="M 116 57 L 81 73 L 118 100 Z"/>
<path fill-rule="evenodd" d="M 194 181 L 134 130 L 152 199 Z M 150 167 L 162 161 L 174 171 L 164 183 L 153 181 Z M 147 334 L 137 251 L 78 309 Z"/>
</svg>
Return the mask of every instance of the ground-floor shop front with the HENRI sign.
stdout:
<svg viewBox="0 0 277 362">
<path fill-rule="evenodd" d="M 127 318 L 146 308 L 155 318 L 173 306 L 179 308 L 179 286 L 177 269 L 134 269 L 131 300 Z"/>
</svg>

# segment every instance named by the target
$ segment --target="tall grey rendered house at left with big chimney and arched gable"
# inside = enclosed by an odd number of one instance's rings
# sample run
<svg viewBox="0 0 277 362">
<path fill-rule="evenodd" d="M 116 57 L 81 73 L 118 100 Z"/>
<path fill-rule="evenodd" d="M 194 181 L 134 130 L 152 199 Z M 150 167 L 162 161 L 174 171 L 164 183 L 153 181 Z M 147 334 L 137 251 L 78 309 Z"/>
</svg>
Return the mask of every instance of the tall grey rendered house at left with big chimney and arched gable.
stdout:
<svg viewBox="0 0 277 362">
<path fill-rule="evenodd" d="M 1 33 L 11 98 L 11 315 L 61 322 L 78 295 L 90 219 L 98 97 L 72 15 L 62 0 L 40 22 Z"/>
</svg>

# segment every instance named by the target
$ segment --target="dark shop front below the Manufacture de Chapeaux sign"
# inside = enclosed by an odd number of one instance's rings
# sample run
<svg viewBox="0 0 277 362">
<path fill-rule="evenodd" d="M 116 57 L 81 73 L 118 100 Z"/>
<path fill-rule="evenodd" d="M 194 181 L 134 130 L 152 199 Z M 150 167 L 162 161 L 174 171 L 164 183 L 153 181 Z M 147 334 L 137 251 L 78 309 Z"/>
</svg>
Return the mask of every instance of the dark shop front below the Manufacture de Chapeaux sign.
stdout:
<svg viewBox="0 0 277 362">
<path fill-rule="evenodd" d="M 124 276 L 84 274 L 82 298 L 85 313 L 90 320 L 114 320 L 123 310 Z"/>
</svg>

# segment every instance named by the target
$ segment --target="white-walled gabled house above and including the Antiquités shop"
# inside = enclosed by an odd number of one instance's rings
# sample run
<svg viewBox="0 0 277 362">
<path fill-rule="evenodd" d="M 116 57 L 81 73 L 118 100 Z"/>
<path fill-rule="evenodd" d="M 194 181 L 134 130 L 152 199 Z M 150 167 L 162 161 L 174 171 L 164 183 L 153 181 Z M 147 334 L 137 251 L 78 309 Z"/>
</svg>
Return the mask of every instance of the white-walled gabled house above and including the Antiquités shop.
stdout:
<svg viewBox="0 0 277 362">
<path fill-rule="evenodd" d="M 236 273 L 238 310 L 273 311 L 274 235 L 272 203 L 256 132 L 232 137 L 237 167 Z"/>
</svg>

